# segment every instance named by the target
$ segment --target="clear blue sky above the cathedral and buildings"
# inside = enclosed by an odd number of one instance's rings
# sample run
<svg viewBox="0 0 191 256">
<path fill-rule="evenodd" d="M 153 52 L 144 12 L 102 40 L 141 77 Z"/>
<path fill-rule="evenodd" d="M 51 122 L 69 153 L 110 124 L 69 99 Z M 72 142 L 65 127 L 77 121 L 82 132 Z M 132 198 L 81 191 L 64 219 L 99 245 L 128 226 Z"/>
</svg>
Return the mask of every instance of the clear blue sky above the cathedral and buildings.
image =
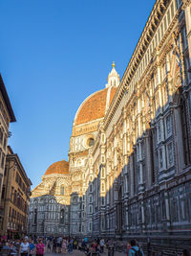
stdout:
<svg viewBox="0 0 191 256">
<path fill-rule="evenodd" d="M 17 122 L 9 144 L 36 186 L 68 159 L 74 115 L 120 77 L 155 0 L 0 0 L 0 72 Z"/>
</svg>

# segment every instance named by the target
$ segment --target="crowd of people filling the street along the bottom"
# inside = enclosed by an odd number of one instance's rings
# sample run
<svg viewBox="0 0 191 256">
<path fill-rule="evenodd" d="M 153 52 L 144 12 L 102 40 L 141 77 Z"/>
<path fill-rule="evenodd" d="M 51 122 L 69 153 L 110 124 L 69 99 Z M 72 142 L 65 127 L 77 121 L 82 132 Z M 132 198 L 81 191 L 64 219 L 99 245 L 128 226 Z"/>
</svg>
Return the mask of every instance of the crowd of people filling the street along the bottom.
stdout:
<svg viewBox="0 0 191 256">
<path fill-rule="evenodd" d="M 84 252 L 85 256 L 99 256 L 105 252 L 107 247 L 108 256 L 114 256 L 114 243 L 110 240 L 104 241 L 103 238 L 90 241 L 87 238 L 82 241 L 76 238 L 48 237 L 32 238 L 25 236 L 21 240 L 9 240 L 0 237 L 0 251 L 7 251 L 8 256 L 44 256 L 45 251 L 50 253 L 66 254 L 73 253 L 74 249 Z M 1 252 L 0 252 L 0 255 Z M 127 256 L 144 256 L 141 245 L 137 240 L 131 240 L 126 247 Z M 159 256 L 157 253 L 146 252 L 147 256 Z M 191 256 L 190 252 L 183 249 L 181 256 Z"/>
</svg>

